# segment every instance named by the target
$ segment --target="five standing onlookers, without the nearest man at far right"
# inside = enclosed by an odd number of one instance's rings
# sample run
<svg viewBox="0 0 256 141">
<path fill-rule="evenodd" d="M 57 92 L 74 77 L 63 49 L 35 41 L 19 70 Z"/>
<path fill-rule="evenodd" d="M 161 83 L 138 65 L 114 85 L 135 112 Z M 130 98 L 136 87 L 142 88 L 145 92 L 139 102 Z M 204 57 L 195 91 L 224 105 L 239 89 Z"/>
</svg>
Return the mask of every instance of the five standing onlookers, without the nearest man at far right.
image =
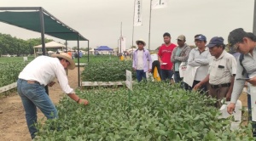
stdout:
<svg viewBox="0 0 256 141">
<path fill-rule="evenodd" d="M 171 42 L 170 33 L 164 33 L 164 42 L 158 52 L 160 63 L 160 78 L 162 81 L 181 83 L 186 90 L 200 89 L 201 93 L 208 93 L 212 98 L 219 99 L 216 107 L 220 107 L 220 100 L 230 101 L 236 76 L 236 58 L 225 51 L 224 38 L 212 37 L 207 44 L 207 37 L 195 35 L 195 48 L 190 48 L 186 37 L 177 37 L 177 45 Z M 146 72 L 152 71 L 152 59 L 143 40 L 137 41 L 137 50 L 133 55 L 133 69 L 137 73 L 138 82 L 146 78 Z M 185 68 L 185 71 L 183 71 Z M 186 70 L 186 68 L 188 70 Z M 194 70 L 192 74 L 190 71 Z M 181 71 L 183 75 L 181 76 Z M 192 82 L 183 81 L 187 79 Z"/>
</svg>

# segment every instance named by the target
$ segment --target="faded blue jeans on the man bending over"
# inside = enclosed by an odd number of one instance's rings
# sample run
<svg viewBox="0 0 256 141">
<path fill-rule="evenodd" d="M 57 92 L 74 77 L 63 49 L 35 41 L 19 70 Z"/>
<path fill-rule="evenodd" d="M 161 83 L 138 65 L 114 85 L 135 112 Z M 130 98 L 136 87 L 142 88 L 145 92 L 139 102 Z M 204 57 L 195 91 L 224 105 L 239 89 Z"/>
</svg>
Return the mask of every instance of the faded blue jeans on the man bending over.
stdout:
<svg viewBox="0 0 256 141">
<path fill-rule="evenodd" d="M 45 92 L 44 86 L 38 82 L 28 83 L 25 80 L 18 79 L 17 89 L 26 112 L 26 124 L 29 133 L 32 138 L 35 138 L 35 133 L 38 132 L 34 126 L 38 119 L 37 107 L 47 119 L 58 118 L 58 112 L 55 104 L 52 103 Z"/>
</svg>

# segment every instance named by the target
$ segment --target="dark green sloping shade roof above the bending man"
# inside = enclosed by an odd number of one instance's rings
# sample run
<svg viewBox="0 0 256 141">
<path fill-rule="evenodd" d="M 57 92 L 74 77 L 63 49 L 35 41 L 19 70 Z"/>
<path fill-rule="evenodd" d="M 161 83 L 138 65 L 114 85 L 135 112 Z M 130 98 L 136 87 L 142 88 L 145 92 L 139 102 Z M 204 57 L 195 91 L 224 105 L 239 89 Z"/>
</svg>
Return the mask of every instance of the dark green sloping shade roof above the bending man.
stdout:
<svg viewBox="0 0 256 141">
<path fill-rule="evenodd" d="M 41 32 L 40 9 L 44 17 L 44 34 L 69 41 L 88 41 L 78 31 L 65 25 L 41 7 L 0 7 L 0 21 L 31 31 Z M 25 10 L 25 11 L 24 11 Z"/>
</svg>

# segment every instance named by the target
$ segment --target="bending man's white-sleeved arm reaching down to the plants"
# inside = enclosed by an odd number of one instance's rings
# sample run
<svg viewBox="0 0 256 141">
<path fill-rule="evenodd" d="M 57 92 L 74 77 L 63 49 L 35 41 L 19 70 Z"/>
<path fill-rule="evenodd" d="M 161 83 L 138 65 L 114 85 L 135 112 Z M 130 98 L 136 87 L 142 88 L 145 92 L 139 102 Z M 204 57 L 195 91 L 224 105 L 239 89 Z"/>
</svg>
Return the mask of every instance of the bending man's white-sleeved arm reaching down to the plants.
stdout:
<svg viewBox="0 0 256 141">
<path fill-rule="evenodd" d="M 88 100 L 80 99 L 79 96 L 74 93 L 73 88 L 68 85 L 67 75 L 62 65 L 58 65 L 55 68 L 55 76 L 60 83 L 62 91 L 64 91 L 64 93 L 66 93 L 71 99 L 75 100 L 79 104 L 89 104 Z"/>
</svg>

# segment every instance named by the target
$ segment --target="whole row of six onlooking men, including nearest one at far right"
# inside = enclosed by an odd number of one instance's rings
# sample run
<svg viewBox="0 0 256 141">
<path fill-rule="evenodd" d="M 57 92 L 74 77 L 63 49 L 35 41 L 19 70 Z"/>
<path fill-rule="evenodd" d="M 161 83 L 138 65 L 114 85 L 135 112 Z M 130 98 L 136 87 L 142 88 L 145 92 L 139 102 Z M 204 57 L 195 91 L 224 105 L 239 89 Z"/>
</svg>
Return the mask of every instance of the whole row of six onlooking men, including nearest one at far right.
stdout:
<svg viewBox="0 0 256 141">
<path fill-rule="evenodd" d="M 185 43 L 186 37 L 183 35 L 177 37 L 177 45 L 171 42 L 169 33 L 166 32 L 163 38 L 165 43 L 158 52 L 162 81 L 169 82 L 173 76 L 174 82 L 180 82 L 184 89 L 200 90 L 218 99 L 215 104 L 218 108 L 221 100 L 226 99 L 230 101 L 227 108 L 230 114 L 235 110 L 236 101 L 247 82 L 249 112 L 252 112 L 253 106 L 256 108 L 256 98 L 250 95 L 256 94 L 256 37 L 253 33 L 241 28 L 231 31 L 228 37 L 229 53 L 225 50 L 223 37 L 212 37 L 207 42 L 206 36 L 195 35 L 195 48 Z M 143 40 L 138 40 L 138 49 L 133 53 L 132 67 L 137 71 L 138 82 L 146 78 L 145 72 L 154 69 L 148 50 L 143 48 L 145 45 Z M 190 81 L 186 81 L 188 79 Z M 256 121 L 256 115 L 252 119 Z M 256 128 L 254 124 L 253 128 Z"/>
</svg>

